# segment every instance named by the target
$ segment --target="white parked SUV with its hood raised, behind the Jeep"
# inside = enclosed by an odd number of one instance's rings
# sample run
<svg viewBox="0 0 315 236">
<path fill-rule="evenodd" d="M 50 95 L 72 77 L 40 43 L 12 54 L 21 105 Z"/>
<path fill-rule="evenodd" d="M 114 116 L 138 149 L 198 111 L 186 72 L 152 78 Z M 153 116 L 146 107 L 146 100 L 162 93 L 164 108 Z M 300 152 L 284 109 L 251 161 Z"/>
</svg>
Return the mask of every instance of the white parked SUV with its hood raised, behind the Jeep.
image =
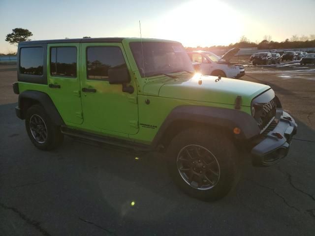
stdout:
<svg viewBox="0 0 315 236">
<path fill-rule="evenodd" d="M 199 70 L 203 75 L 240 78 L 245 75 L 244 65 L 232 64 L 230 62 L 230 59 L 237 54 L 238 51 L 240 51 L 239 48 L 232 48 L 222 57 L 205 51 L 188 52 L 188 55 L 194 68 Z"/>
</svg>

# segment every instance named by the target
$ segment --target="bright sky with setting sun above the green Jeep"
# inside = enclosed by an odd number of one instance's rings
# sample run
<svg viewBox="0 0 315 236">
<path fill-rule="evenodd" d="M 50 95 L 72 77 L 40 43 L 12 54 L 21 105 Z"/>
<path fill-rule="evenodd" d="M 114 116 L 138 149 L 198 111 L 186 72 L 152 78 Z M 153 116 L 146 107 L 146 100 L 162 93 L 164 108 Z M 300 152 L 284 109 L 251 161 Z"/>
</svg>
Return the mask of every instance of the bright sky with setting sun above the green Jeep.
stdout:
<svg viewBox="0 0 315 236">
<path fill-rule="evenodd" d="M 315 0 L 0 0 L 0 52 L 14 28 L 32 40 L 142 37 L 180 41 L 184 46 L 228 45 L 245 35 L 283 41 L 315 34 Z"/>
</svg>

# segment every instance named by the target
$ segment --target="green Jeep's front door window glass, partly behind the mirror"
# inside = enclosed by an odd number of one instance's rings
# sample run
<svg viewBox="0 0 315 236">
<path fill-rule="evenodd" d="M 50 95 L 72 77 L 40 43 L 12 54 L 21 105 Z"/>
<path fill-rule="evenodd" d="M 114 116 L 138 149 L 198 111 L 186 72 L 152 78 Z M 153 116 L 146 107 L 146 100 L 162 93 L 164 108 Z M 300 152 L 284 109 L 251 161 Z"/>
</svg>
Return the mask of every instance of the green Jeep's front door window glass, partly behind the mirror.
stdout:
<svg viewBox="0 0 315 236">
<path fill-rule="evenodd" d="M 119 47 L 87 48 L 87 79 L 106 80 L 108 69 L 126 67 L 126 61 Z"/>
</svg>

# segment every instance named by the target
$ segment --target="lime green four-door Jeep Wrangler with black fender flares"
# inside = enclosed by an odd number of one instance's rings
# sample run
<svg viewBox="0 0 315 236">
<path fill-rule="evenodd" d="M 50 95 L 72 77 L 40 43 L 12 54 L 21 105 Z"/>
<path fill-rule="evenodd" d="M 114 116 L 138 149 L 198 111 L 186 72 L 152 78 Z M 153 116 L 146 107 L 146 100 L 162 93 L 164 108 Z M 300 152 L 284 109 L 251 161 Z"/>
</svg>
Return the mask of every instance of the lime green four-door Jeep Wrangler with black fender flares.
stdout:
<svg viewBox="0 0 315 236">
<path fill-rule="evenodd" d="M 269 86 L 197 74 L 175 41 L 22 42 L 13 90 L 16 115 L 37 148 L 57 148 L 69 135 L 165 151 L 177 185 L 209 201 L 235 184 L 240 150 L 253 165 L 270 166 L 297 131 Z"/>
</svg>

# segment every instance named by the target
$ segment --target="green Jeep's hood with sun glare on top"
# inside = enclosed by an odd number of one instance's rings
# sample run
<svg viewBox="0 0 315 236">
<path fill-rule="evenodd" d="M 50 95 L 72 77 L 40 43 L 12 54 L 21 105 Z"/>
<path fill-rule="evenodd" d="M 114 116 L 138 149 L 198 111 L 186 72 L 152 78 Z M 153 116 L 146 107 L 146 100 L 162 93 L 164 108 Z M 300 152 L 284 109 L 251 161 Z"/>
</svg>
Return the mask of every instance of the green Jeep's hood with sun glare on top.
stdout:
<svg viewBox="0 0 315 236">
<path fill-rule="evenodd" d="M 175 79 L 165 83 L 149 83 L 144 87 L 144 92 L 161 97 L 230 105 L 234 105 L 236 97 L 241 96 L 241 105 L 251 106 L 252 98 L 270 89 L 267 85 L 248 81 L 217 79 L 216 76 L 196 74 L 188 80 Z"/>
</svg>

